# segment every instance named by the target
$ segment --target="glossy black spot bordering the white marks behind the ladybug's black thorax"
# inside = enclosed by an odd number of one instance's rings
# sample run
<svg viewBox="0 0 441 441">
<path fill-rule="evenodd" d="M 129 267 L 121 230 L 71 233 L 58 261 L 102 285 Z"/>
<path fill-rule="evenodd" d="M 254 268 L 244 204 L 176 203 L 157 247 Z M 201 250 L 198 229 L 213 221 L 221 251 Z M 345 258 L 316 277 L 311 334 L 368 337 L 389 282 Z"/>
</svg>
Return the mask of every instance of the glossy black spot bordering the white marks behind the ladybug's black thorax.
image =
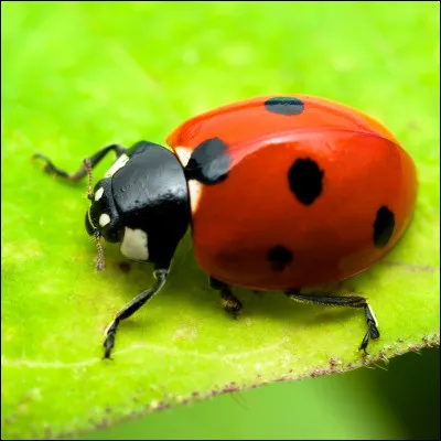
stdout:
<svg viewBox="0 0 441 441">
<path fill-rule="evenodd" d="M 213 185 L 227 178 L 230 165 L 226 143 L 219 138 L 201 142 L 185 166 L 186 179 Z"/>
</svg>

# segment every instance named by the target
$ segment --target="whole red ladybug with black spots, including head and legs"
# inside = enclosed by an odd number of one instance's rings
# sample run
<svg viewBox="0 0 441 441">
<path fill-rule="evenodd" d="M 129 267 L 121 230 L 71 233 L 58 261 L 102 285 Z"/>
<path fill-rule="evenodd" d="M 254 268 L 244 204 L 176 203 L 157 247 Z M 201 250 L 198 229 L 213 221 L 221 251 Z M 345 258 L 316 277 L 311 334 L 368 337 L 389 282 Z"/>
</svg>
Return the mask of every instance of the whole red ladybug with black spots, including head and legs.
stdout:
<svg viewBox="0 0 441 441">
<path fill-rule="evenodd" d="M 111 144 L 84 160 L 89 175 L 86 230 L 120 243 L 129 259 L 153 265 L 155 283 L 115 316 L 106 330 L 110 357 L 119 323 L 159 292 L 189 226 L 209 284 L 234 316 L 241 303 L 232 287 L 280 290 L 292 300 L 361 308 L 378 338 L 363 297 L 302 294 L 354 276 L 381 259 L 409 226 L 417 196 L 416 168 L 384 126 L 351 107 L 312 96 L 243 100 L 198 115 L 168 138 L 170 149 L 141 141 Z M 117 157 L 92 191 L 92 169 Z"/>
</svg>

